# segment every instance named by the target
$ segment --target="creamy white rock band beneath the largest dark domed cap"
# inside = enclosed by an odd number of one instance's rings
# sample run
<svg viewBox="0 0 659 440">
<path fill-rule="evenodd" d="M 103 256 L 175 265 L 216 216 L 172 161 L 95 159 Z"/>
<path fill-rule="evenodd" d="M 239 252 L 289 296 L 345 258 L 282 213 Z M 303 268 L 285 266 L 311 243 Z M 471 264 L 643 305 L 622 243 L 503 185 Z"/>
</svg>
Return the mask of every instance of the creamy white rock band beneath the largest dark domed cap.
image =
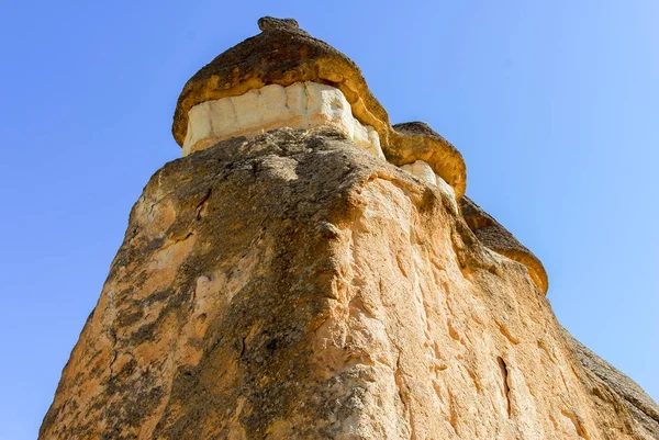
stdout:
<svg viewBox="0 0 659 440">
<path fill-rule="evenodd" d="M 188 113 L 183 156 L 236 136 L 256 136 L 273 128 L 334 126 L 360 147 L 384 157 L 378 132 L 353 116 L 340 90 L 317 82 L 270 84 L 238 97 L 205 101 Z"/>
</svg>

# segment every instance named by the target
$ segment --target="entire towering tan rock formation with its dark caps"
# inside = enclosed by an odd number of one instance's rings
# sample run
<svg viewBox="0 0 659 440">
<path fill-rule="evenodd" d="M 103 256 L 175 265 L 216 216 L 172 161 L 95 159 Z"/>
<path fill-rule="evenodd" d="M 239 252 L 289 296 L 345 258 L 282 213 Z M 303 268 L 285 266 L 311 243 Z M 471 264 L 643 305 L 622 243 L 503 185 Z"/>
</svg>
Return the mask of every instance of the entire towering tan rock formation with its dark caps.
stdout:
<svg viewBox="0 0 659 440">
<path fill-rule="evenodd" d="M 657 439 L 422 123 L 297 27 L 186 84 L 40 439 Z"/>
</svg>

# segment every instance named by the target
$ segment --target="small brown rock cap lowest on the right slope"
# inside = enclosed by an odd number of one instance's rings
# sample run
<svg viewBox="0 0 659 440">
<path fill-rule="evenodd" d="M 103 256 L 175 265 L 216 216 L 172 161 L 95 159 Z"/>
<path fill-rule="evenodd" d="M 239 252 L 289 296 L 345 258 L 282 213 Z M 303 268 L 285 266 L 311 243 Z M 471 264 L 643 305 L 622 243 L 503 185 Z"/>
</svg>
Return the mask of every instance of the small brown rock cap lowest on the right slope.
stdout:
<svg viewBox="0 0 659 440">
<path fill-rule="evenodd" d="M 526 266 L 533 282 L 543 293 L 547 293 L 549 289 L 547 272 L 543 262 L 530 250 L 466 195 L 460 200 L 460 210 L 467 225 L 484 246 Z"/>
</svg>

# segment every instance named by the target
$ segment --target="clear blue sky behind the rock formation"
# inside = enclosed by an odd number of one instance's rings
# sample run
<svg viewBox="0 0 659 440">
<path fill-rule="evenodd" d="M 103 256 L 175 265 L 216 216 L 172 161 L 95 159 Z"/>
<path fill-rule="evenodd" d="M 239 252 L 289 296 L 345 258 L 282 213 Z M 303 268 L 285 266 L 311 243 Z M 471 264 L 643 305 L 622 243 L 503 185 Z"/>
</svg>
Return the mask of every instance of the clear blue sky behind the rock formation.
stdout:
<svg viewBox="0 0 659 440">
<path fill-rule="evenodd" d="M 0 439 L 34 439 L 178 93 L 294 16 L 544 261 L 559 320 L 659 399 L 659 3 L 2 1 Z"/>
</svg>

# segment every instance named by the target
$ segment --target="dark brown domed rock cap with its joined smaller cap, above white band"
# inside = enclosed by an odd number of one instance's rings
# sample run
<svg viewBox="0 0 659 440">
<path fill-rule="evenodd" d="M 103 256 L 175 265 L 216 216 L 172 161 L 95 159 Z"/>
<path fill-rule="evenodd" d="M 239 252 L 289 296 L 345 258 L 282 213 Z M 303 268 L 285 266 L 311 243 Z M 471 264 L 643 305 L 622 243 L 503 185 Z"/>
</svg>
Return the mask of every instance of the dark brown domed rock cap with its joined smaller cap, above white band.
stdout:
<svg viewBox="0 0 659 440">
<path fill-rule="evenodd" d="M 424 160 L 454 188 L 457 199 L 465 193 L 466 167 L 460 153 L 432 129 L 428 134 L 392 127 L 387 111 L 351 59 L 302 31 L 295 20 L 266 16 L 258 25 L 260 34 L 220 54 L 183 87 L 172 124 L 174 138 L 180 146 L 188 132 L 188 113 L 198 104 L 239 97 L 270 84 L 315 82 L 345 95 L 353 116 L 378 133 L 390 162 Z"/>
</svg>

